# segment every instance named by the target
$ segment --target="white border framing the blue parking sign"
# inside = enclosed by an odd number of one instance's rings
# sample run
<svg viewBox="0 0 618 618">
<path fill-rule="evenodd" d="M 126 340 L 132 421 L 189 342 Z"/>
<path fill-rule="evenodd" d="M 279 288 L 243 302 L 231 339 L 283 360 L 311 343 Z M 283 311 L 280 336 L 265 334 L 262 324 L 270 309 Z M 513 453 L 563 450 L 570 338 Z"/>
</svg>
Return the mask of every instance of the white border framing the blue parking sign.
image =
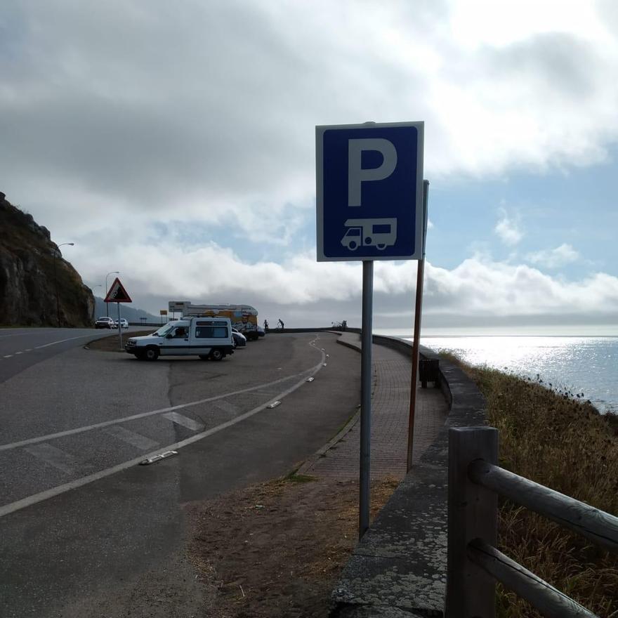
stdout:
<svg viewBox="0 0 618 618">
<path fill-rule="evenodd" d="M 362 256 L 357 258 L 331 258 L 324 255 L 324 131 L 330 129 L 381 129 L 383 127 L 416 127 L 419 137 L 416 144 L 416 221 L 414 254 L 412 256 Z M 364 122 L 362 124 L 322 124 L 315 127 L 315 201 L 318 262 L 360 262 L 377 260 L 420 260 L 423 258 L 423 152 L 425 122 Z"/>
</svg>

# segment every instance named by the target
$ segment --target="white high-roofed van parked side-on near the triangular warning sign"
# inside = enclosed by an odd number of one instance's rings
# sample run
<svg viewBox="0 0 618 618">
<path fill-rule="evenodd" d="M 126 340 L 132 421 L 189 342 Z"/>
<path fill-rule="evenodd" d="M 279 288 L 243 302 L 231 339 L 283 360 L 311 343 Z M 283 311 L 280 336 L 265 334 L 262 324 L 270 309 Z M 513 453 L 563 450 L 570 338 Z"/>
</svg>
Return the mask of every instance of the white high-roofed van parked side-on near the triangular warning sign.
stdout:
<svg viewBox="0 0 618 618">
<path fill-rule="evenodd" d="M 140 360 L 165 356 L 199 356 L 202 360 L 223 360 L 234 353 L 229 317 L 186 317 L 168 322 L 145 337 L 130 337 L 124 349 Z"/>
</svg>

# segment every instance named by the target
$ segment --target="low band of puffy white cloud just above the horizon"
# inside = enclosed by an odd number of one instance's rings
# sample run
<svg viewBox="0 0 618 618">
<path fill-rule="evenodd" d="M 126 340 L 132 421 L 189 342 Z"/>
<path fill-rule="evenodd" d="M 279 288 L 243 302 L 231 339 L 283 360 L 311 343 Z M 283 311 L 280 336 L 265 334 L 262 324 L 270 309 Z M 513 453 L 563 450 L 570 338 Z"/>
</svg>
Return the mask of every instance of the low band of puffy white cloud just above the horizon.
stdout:
<svg viewBox="0 0 618 618">
<path fill-rule="evenodd" d="M 85 249 L 72 248 L 72 262 L 86 282 L 100 279 L 100 264 Z M 68 253 L 68 252 L 67 252 Z M 68 257 L 68 256 L 67 256 Z M 321 310 L 336 303 L 360 303 L 360 263 L 317 263 L 315 251 L 305 251 L 282 263 L 243 261 L 229 249 L 211 242 L 181 249 L 177 244 L 119 247 L 115 264 L 136 306 L 152 311 L 152 298 L 188 298 L 198 302 L 242 302 L 303 305 Z M 122 274 L 129 273 L 129 274 Z M 402 298 L 416 284 L 414 262 L 377 261 L 374 291 L 390 298 L 400 311 Z M 160 304 L 160 301 L 157 301 Z M 360 306 L 360 305 L 359 305 Z M 404 305 L 405 306 L 405 305 Z M 426 315 L 530 316 L 576 314 L 594 322 L 616 313 L 618 277 L 597 272 L 566 282 L 527 265 L 511 265 L 475 257 L 452 270 L 426 263 Z"/>
</svg>

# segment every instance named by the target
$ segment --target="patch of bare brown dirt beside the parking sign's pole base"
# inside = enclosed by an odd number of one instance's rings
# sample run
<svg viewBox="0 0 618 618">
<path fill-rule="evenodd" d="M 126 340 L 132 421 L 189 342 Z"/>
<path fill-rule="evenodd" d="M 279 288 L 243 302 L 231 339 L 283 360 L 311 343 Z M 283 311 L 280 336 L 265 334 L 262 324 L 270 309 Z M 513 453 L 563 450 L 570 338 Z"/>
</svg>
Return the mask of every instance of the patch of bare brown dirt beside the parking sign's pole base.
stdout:
<svg viewBox="0 0 618 618">
<path fill-rule="evenodd" d="M 372 516 L 397 486 L 372 485 Z M 213 618 L 326 617 L 357 541 L 358 484 L 295 476 L 185 506 Z M 206 614 L 204 614 L 205 616 Z"/>
</svg>

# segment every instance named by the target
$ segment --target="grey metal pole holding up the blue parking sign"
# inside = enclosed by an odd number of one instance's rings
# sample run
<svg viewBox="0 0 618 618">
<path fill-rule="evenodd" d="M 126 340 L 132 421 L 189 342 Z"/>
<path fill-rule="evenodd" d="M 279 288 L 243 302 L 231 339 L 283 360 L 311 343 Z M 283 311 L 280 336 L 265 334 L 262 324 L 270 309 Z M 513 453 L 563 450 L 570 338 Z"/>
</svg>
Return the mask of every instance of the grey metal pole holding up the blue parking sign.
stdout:
<svg viewBox="0 0 618 618">
<path fill-rule="evenodd" d="M 360 361 L 360 496 L 358 538 L 369 528 L 369 486 L 372 433 L 372 313 L 374 263 L 362 263 L 362 336 Z"/>
</svg>

